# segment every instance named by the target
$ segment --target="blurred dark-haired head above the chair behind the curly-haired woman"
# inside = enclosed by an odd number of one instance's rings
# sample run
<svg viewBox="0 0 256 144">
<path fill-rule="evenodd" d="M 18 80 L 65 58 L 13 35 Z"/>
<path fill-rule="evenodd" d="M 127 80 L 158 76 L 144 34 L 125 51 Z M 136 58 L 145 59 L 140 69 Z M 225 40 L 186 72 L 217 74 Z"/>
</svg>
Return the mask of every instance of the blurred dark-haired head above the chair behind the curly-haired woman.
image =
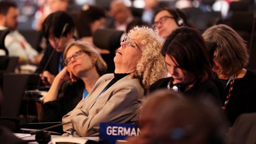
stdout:
<svg viewBox="0 0 256 144">
<path fill-rule="evenodd" d="M 104 27 L 105 22 L 104 9 L 98 6 L 84 5 L 76 18 L 76 30 L 80 38 L 92 36 L 95 30 Z"/>
</svg>

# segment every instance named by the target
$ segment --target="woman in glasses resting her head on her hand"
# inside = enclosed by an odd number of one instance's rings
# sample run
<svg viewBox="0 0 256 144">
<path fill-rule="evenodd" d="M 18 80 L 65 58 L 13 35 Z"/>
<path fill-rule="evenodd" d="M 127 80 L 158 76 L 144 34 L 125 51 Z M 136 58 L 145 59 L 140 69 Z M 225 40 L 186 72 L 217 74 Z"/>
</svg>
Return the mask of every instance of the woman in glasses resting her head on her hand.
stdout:
<svg viewBox="0 0 256 144">
<path fill-rule="evenodd" d="M 88 42 L 73 40 L 68 43 L 63 60 L 65 67 L 54 78 L 44 98 L 38 114 L 39 122 L 60 122 L 63 116 L 91 92 L 96 81 L 107 69 L 99 52 Z M 61 84 L 62 93 L 57 98 Z"/>
</svg>

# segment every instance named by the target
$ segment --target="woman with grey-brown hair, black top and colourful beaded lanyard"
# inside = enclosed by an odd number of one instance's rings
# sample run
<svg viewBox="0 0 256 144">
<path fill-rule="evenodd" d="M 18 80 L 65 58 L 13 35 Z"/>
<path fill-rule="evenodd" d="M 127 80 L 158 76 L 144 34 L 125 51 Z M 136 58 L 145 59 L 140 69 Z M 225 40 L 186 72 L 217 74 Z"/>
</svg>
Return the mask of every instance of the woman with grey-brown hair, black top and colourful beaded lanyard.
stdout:
<svg viewBox="0 0 256 144">
<path fill-rule="evenodd" d="M 212 70 L 215 78 L 227 83 L 221 100 L 232 126 L 239 115 L 256 112 L 256 74 L 244 68 L 249 62 L 248 50 L 245 41 L 232 28 L 216 25 L 208 28 L 203 37 L 219 44 Z"/>
</svg>

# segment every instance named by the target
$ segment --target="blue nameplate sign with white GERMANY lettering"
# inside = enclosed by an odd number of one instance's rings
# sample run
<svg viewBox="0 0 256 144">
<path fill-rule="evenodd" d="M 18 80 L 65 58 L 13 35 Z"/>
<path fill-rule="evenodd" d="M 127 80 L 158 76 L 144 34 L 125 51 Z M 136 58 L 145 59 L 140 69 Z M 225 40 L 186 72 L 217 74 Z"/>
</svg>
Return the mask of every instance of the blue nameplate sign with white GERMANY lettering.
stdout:
<svg viewBox="0 0 256 144">
<path fill-rule="evenodd" d="M 116 144 L 116 140 L 140 134 L 140 129 L 135 124 L 100 123 L 100 139 L 104 144 Z"/>
</svg>

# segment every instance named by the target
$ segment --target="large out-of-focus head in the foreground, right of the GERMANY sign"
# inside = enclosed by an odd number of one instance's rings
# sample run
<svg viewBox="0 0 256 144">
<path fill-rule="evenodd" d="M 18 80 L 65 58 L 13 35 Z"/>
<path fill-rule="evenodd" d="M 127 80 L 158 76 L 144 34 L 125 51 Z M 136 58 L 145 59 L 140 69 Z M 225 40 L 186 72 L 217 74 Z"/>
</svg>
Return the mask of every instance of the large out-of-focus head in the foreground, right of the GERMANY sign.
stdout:
<svg viewBox="0 0 256 144">
<path fill-rule="evenodd" d="M 127 143 L 222 144 L 226 142 L 226 124 L 212 99 L 185 99 L 173 91 L 156 91 L 142 104 L 141 135 L 128 138 Z"/>
</svg>

